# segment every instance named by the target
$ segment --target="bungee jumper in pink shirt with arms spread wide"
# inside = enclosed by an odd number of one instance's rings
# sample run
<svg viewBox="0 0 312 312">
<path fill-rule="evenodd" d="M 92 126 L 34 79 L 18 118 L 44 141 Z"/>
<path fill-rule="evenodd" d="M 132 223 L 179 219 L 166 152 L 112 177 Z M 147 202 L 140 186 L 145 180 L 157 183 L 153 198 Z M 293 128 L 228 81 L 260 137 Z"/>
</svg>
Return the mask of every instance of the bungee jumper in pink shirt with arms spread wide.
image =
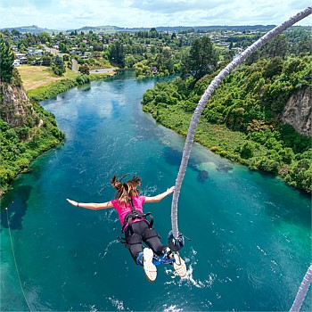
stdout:
<svg viewBox="0 0 312 312">
<path fill-rule="evenodd" d="M 144 213 L 143 211 L 145 202 L 161 201 L 168 194 L 175 191 L 175 186 L 171 186 L 166 192 L 152 197 L 140 196 L 137 187 L 141 185 L 141 178 L 134 175 L 127 182 L 122 183 L 121 181 L 125 177 L 127 175 L 120 179 L 116 175 L 111 178 L 111 185 L 117 189 L 115 199 L 111 201 L 102 203 L 78 202 L 70 199 L 67 199 L 67 201 L 73 206 L 86 209 L 116 209 L 122 226 L 121 232 L 125 234 L 125 237 L 120 237 L 120 239 L 130 251 L 135 264 L 144 267 L 144 273 L 148 281 L 155 281 L 157 277 L 156 266 L 160 264 L 173 265 L 177 275 L 185 277 L 186 266 L 184 259 L 180 257 L 174 246 L 173 249 L 170 249 L 160 242 L 160 236 L 153 228 L 151 213 Z M 150 220 L 147 219 L 148 217 Z M 148 247 L 144 247 L 143 242 Z"/>
</svg>

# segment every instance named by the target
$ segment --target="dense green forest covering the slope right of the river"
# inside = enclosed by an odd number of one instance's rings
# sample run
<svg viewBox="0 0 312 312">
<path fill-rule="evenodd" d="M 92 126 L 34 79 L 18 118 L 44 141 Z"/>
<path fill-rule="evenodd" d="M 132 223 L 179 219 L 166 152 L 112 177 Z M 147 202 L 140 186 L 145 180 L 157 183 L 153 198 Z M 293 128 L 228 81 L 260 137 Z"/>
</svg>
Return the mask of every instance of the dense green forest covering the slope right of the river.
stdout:
<svg viewBox="0 0 312 312">
<path fill-rule="evenodd" d="M 195 141 L 230 160 L 278 175 L 289 185 L 310 193 L 311 137 L 300 135 L 281 121 L 292 94 L 311 94 L 312 56 L 307 45 L 298 43 L 293 37 L 280 35 L 234 70 L 202 112 Z M 196 49 L 193 45 L 191 59 Z M 212 56 L 208 61 L 210 70 L 205 70 L 210 71 L 208 75 L 196 76 L 191 68 L 184 77 L 148 90 L 142 101 L 144 111 L 186 135 L 201 95 L 218 74 Z"/>
</svg>

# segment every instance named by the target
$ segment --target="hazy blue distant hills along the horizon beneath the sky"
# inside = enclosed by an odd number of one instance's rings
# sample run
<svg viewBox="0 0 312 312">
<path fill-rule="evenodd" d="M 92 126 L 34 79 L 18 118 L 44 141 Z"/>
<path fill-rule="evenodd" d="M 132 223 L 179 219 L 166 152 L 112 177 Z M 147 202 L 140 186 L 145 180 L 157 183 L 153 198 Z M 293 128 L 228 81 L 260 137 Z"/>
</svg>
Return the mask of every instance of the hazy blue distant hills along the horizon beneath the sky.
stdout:
<svg viewBox="0 0 312 312">
<path fill-rule="evenodd" d="M 187 31 L 188 29 L 193 29 L 194 31 L 209 31 L 213 29 L 217 30 L 237 30 L 237 31 L 243 31 L 243 30 L 260 30 L 260 31 L 268 31 L 269 29 L 275 28 L 275 25 L 244 25 L 244 26 L 160 26 L 155 27 L 155 29 L 159 32 L 162 31 Z M 292 26 L 292 28 L 301 28 L 301 29 L 307 29 L 309 31 L 312 30 L 311 26 Z M 21 26 L 21 27 L 10 27 L 10 28 L 4 28 L 12 31 L 12 29 L 16 29 L 20 31 L 21 33 L 29 32 L 31 34 L 38 34 L 40 32 L 47 32 L 48 34 L 52 35 L 53 33 L 59 33 L 62 31 L 64 34 L 69 34 L 72 31 L 77 30 L 78 32 L 84 31 L 88 32 L 89 30 L 92 30 L 94 33 L 100 33 L 103 32 L 105 34 L 112 34 L 115 32 L 122 32 L 122 31 L 128 31 L 128 32 L 135 32 L 135 31 L 148 31 L 151 30 L 151 28 L 127 28 L 127 27 L 118 27 L 118 26 L 84 26 L 80 29 L 68 29 L 68 30 L 60 30 L 60 29 L 42 29 L 40 27 L 37 27 L 37 25 L 32 26 Z M 0 29 L 0 30 L 4 30 Z"/>
</svg>

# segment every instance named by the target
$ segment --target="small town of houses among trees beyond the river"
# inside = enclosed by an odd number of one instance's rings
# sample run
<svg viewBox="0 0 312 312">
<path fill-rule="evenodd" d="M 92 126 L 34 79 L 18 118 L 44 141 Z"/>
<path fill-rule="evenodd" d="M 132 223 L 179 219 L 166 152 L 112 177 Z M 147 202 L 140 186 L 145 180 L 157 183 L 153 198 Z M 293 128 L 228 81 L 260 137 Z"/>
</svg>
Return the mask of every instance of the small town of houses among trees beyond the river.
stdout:
<svg viewBox="0 0 312 312">
<path fill-rule="evenodd" d="M 31 30 L 37 29 L 33 25 Z M 25 29 L 24 29 L 25 30 Z M 51 66 L 55 57 L 60 56 L 56 62 L 66 62 L 67 68 L 82 72 L 111 68 L 133 68 L 135 64 L 144 62 L 143 76 L 155 74 L 174 74 L 178 72 L 160 63 L 157 55 L 167 58 L 181 58 L 182 51 L 190 47 L 196 38 L 209 37 L 218 50 L 221 59 L 230 60 L 242 50 L 257 40 L 266 28 L 244 29 L 186 29 L 157 31 L 136 30 L 127 32 L 107 33 L 101 29 L 83 29 L 49 34 L 41 32 L 32 34 L 21 33 L 17 29 L 0 30 L 0 36 L 10 42 L 15 54 L 14 66 Z M 165 52 L 165 53 L 164 53 Z M 158 58 L 160 59 L 160 57 Z M 72 62 L 74 60 L 74 62 Z M 75 62 L 76 60 L 76 62 Z M 178 61 L 175 61 L 178 63 Z M 86 66 L 80 66 L 86 65 Z M 146 70 L 146 66 L 149 70 Z M 168 71 L 164 71 L 168 70 Z M 55 74 L 62 70 L 54 70 Z M 94 71 L 95 72 L 95 71 Z"/>
</svg>

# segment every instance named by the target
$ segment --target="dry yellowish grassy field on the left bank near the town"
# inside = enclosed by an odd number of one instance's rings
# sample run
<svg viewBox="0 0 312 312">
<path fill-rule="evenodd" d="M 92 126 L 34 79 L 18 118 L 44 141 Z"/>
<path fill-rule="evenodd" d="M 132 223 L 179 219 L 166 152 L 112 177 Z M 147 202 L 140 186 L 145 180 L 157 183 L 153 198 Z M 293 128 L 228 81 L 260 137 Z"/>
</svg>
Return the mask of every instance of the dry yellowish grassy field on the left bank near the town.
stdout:
<svg viewBox="0 0 312 312">
<path fill-rule="evenodd" d="M 76 78 L 80 74 L 67 68 L 64 76 L 56 77 L 46 66 L 21 65 L 17 69 L 20 72 L 21 80 L 26 91 L 36 89 L 39 86 L 45 86 L 53 81 Z"/>
</svg>

